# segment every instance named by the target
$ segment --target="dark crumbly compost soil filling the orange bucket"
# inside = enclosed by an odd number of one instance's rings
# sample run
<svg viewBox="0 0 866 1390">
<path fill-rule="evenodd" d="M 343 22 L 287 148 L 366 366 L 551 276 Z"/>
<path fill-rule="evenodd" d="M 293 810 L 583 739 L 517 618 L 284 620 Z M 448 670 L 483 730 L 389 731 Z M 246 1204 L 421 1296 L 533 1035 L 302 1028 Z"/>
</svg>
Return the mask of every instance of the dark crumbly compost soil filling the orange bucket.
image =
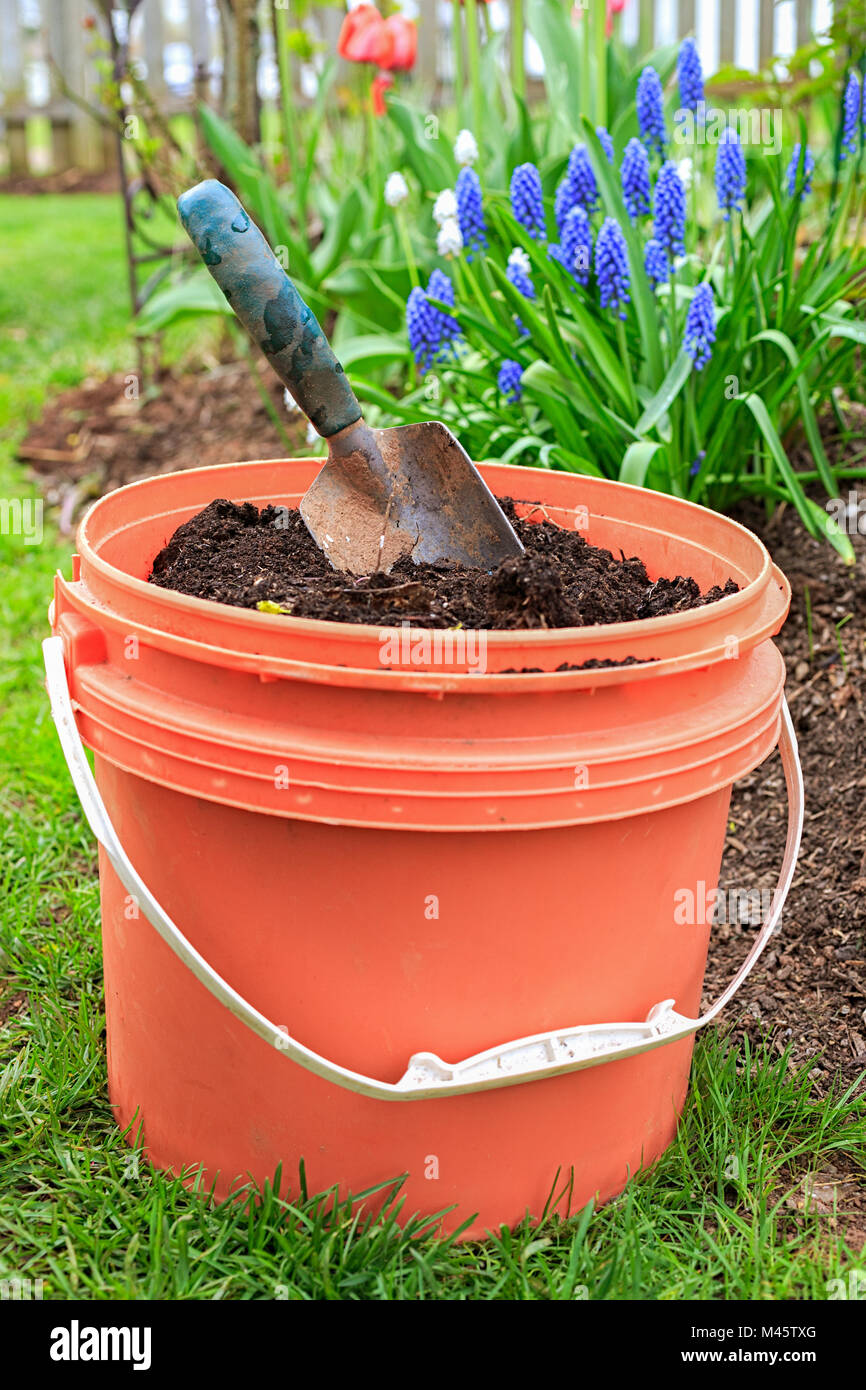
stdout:
<svg viewBox="0 0 866 1390">
<path fill-rule="evenodd" d="M 525 505 L 524 505 L 525 506 Z M 152 582 L 195 598 L 257 607 L 277 603 L 295 617 L 420 627 L 553 628 L 623 623 L 680 613 L 735 594 L 701 594 L 684 575 L 649 580 L 644 562 L 589 545 L 539 517 L 520 517 L 503 502 L 525 555 L 487 570 L 414 564 L 405 557 L 389 574 L 353 577 L 331 567 L 300 514 L 259 512 L 250 502 L 220 499 L 178 527 L 153 562 Z"/>
</svg>

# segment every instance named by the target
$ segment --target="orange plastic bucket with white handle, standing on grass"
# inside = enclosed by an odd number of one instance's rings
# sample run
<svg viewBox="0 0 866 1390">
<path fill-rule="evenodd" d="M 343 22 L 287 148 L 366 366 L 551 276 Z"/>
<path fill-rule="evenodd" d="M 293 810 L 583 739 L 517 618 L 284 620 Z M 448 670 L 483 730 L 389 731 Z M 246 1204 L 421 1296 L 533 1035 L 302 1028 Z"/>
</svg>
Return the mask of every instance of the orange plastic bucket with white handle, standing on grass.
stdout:
<svg viewBox="0 0 866 1390">
<path fill-rule="evenodd" d="M 731 784 L 780 738 L 787 581 L 687 502 L 488 466 L 652 577 L 740 592 L 484 634 L 480 662 L 145 582 L 210 500 L 296 506 L 317 467 L 121 488 L 57 577 L 49 688 L 103 845 L 118 1123 L 220 1194 L 303 1159 L 310 1190 L 406 1173 L 406 1213 L 455 1207 L 468 1233 L 539 1216 L 557 1170 L 573 1209 L 605 1200 L 676 1130 L 710 930 L 677 894 L 717 883 Z"/>
</svg>

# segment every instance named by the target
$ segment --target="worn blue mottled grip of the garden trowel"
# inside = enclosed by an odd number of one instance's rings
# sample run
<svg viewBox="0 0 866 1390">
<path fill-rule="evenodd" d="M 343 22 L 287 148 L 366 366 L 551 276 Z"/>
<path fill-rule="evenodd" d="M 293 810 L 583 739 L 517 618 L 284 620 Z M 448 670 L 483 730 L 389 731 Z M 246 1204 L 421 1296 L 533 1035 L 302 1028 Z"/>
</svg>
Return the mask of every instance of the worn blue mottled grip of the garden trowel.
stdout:
<svg viewBox="0 0 866 1390">
<path fill-rule="evenodd" d="M 217 179 L 178 199 L 181 221 L 235 314 L 325 439 L 361 418 L 346 374 L 274 252 Z"/>
</svg>

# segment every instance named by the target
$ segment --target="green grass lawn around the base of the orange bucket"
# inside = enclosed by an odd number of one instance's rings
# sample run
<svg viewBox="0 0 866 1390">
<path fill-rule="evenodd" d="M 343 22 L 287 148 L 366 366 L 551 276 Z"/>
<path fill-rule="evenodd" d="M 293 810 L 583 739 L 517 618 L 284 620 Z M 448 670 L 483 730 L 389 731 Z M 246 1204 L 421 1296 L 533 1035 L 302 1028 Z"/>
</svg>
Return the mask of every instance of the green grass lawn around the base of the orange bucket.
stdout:
<svg viewBox="0 0 866 1390">
<path fill-rule="evenodd" d="M 133 361 L 115 199 L 0 197 L 0 496 L 32 495 L 13 459 L 26 417 L 50 389 Z M 400 1232 L 393 1208 L 327 1219 L 296 1183 L 249 1211 L 213 1207 L 139 1163 L 106 1093 L 96 853 L 42 689 L 70 553 L 50 516 L 42 545 L 0 537 L 0 1279 L 99 1300 L 820 1300 L 862 1265 L 842 1220 L 802 1209 L 806 1173 L 863 1168 L 862 1104 L 819 1099 L 785 1058 L 714 1036 L 652 1173 L 601 1211 L 485 1245 Z"/>
</svg>

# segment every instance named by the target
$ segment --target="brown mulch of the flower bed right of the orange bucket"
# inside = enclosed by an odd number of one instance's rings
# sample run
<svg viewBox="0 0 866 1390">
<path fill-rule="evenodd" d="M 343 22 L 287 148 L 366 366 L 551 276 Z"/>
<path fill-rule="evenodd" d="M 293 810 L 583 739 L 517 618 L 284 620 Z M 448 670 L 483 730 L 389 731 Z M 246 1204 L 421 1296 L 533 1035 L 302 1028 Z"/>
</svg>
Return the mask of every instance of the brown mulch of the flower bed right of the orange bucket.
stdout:
<svg viewBox="0 0 866 1390">
<path fill-rule="evenodd" d="M 858 1077 L 863 1084 L 866 538 L 852 537 L 858 563 L 847 569 L 803 532 L 790 507 L 769 524 L 759 506 L 738 518 L 762 535 L 794 591 L 791 616 L 776 641 L 788 669 L 806 820 L 781 930 L 738 994 L 733 1030 L 755 1041 L 770 1031 L 778 1051 L 791 1044 L 794 1062 L 813 1062 L 820 1091 L 835 1077 L 842 1086 Z M 785 824 L 784 776 L 774 753 L 734 787 L 720 884 L 726 892 L 771 891 Z M 738 922 L 713 931 L 706 1001 L 734 974 L 753 931 Z"/>
</svg>

